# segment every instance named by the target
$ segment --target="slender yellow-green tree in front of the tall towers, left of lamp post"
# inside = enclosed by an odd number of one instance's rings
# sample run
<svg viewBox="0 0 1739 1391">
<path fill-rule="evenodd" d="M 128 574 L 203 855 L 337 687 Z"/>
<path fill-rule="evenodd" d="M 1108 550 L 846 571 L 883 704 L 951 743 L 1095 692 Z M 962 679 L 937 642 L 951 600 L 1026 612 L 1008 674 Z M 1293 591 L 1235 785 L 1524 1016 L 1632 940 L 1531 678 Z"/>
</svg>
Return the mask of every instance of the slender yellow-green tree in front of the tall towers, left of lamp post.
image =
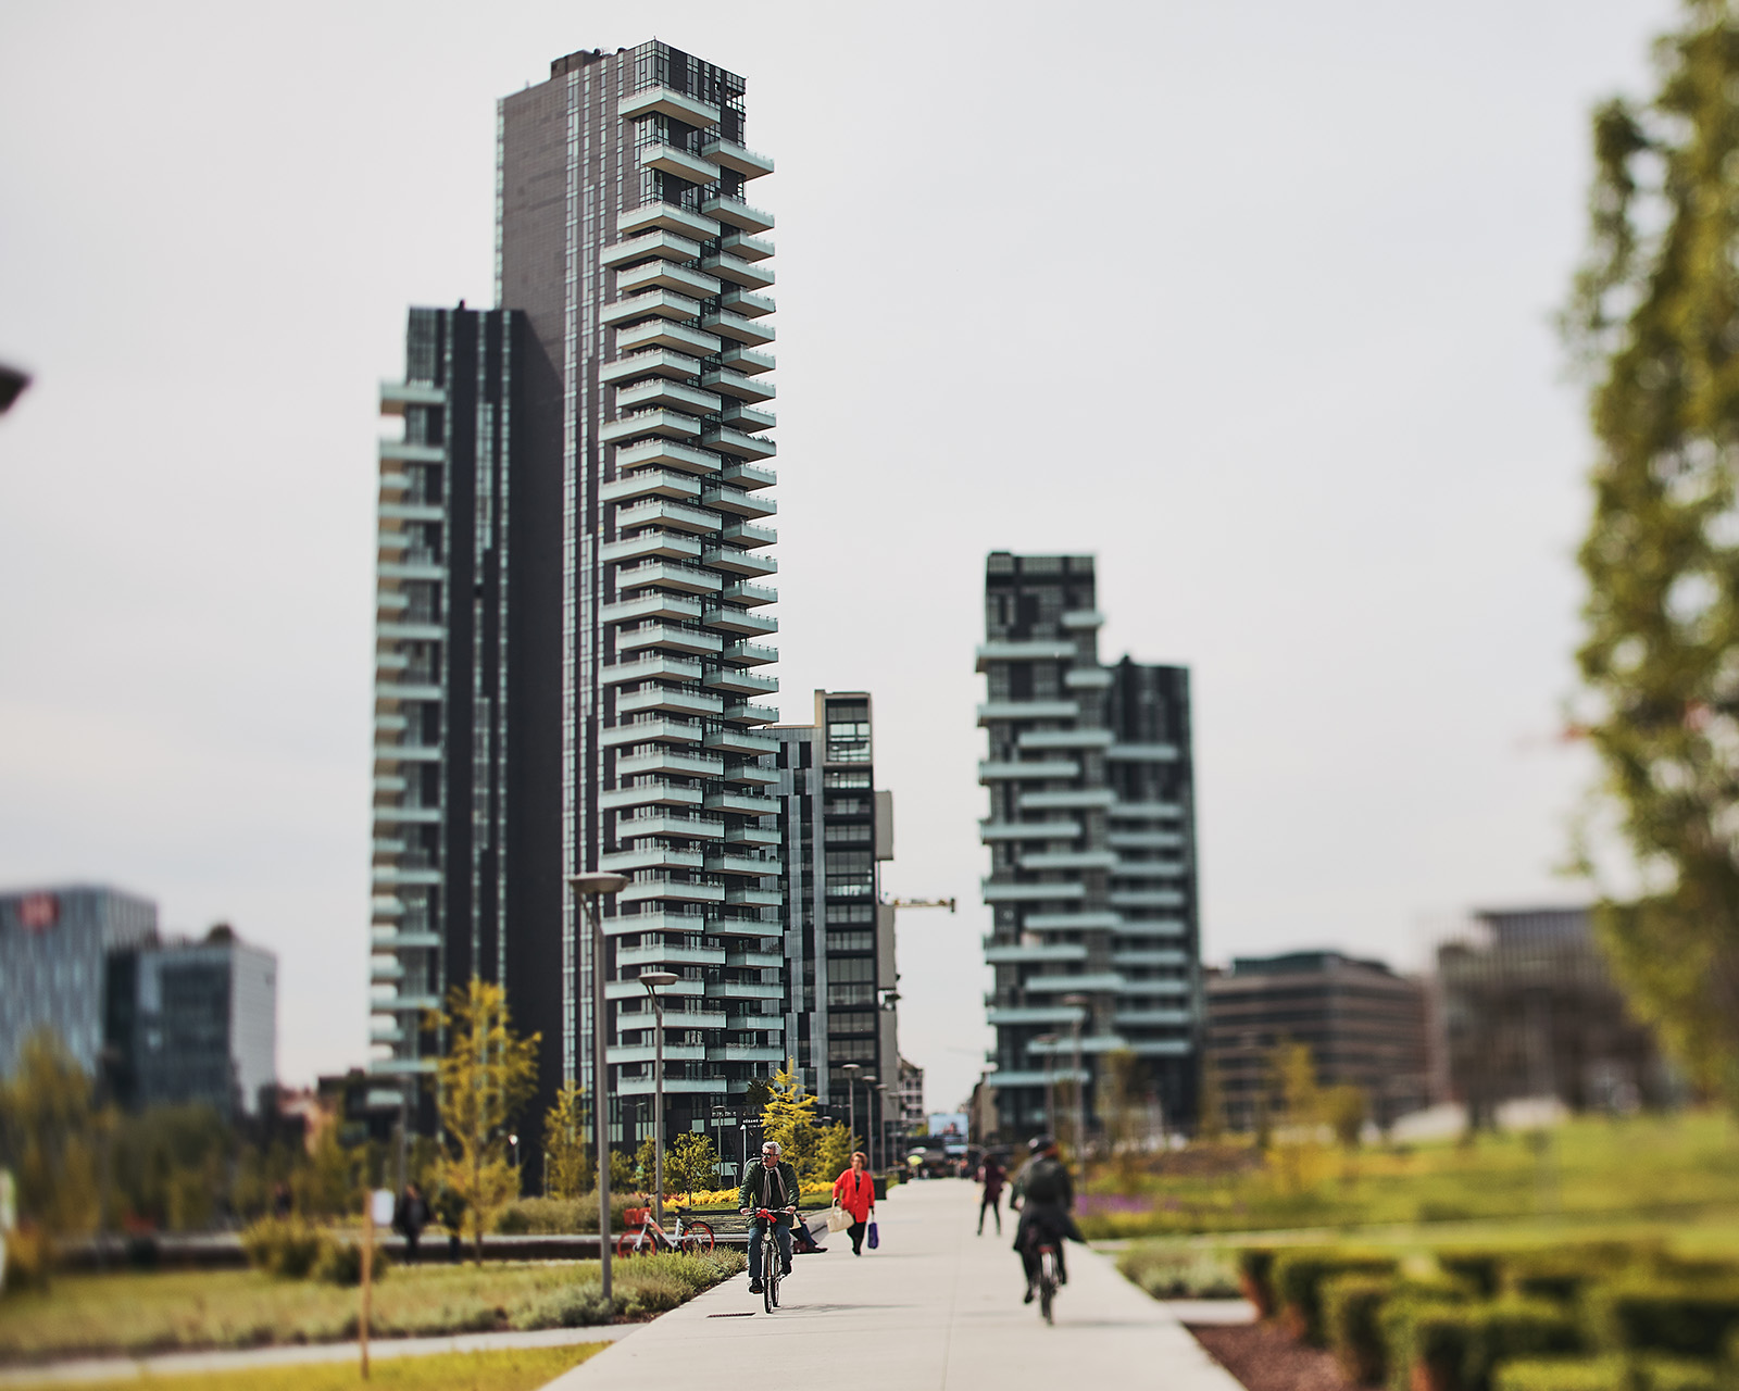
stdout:
<svg viewBox="0 0 1739 1391">
<path fill-rule="evenodd" d="M 508 1127 L 530 1099 L 537 1080 L 541 1035 L 520 1038 L 501 986 L 475 975 L 454 986 L 435 1026 L 449 1038 L 435 1069 L 442 1125 L 438 1182 L 464 1203 L 476 1262 L 483 1233 L 518 1195 L 520 1174 L 508 1161 Z"/>
</svg>

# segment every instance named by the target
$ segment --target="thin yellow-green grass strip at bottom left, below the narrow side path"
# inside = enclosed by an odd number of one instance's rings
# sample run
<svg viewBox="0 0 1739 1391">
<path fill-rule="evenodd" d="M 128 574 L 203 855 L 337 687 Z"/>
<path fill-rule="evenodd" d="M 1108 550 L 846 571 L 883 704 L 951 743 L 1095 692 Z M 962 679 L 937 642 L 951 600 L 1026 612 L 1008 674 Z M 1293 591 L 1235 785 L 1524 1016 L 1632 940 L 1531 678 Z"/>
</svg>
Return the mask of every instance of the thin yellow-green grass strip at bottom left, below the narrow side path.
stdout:
<svg viewBox="0 0 1739 1391">
<path fill-rule="evenodd" d="M 567 1348 L 516 1348 L 506 1353 L 435 1353 L 426 1358 L 370 1361 L 370 1379 L 362 1379 L 355 1361 L 320 1361 L 301 1367 L 259 1367 L 249 1372 L 191 1372 L 174 1377 L 129 1377 L 85 1381 L 78 1391 L 536 1391 L 569 1367 L 602 1353 L 607 1342 Z M 40 1382 L 40 1391 L 49 1391 Z M 38 1391 L 31 1388 L 30 1391 Z M 54 1384 L 64 1391 L 64 1382 Z"/>
</svg>

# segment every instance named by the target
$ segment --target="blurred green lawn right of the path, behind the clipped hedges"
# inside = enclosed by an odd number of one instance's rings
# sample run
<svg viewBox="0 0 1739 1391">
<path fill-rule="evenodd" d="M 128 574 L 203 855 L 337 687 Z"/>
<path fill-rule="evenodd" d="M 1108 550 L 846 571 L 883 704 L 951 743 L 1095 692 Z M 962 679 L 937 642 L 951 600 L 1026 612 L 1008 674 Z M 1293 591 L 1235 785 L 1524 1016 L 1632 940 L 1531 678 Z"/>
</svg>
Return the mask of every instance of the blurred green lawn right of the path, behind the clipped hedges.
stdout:
<svg viewBox="0 0 1739 1391">
<path fill-rule="evenodd" d="M 1214 1172 L 1188 1163 L 1186 1151 L 1174 1172 L 1101 1174 L 1083 1196 L 1082 1228 L 1097 1240 L 1485 1222 L 1713 1222 L 1727 1238 L 1739 1229 L 1739 1127 L 1723 1113 L 1576 1120 L 1544 1144 L 1482 1135 L 1471 1146 L 1355 1155 L 1311 1146 L 1249 1160 L 1228 1151 Z"/>
</svg>

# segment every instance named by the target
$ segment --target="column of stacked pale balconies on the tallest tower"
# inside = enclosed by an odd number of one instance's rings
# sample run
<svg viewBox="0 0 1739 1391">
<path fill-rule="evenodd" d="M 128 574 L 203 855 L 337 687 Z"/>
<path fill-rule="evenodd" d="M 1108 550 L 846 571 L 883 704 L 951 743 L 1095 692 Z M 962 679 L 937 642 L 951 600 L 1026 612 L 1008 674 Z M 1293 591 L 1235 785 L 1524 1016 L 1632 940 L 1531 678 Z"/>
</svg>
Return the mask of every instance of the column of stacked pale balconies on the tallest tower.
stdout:
<svg viewBox="0 0 1739 1391">
<path fill-rule="evenodd" d="M 777 621 L 763 612 L 777 598 L 765 582 L 777 534 L 763 466 L 776 454 L 763 433 L 774 276 L 772 247 L 753 235 L 772 219 L 741 196 L 772 163 L 723 139 L 716 108 L 687 96 L 647 89 L 621 113 L 643 123 L 635 160 L 656 177 L 602 257 L 612 285 L 600 313 L 610 330 L 600 558 L 612 598 L 600 617 L 614 713 L 600 732 L 600 805 L 603 868 L 630 876 L 607 922 L 610 1061 L 624 1068 L 619 1094 L 650 1088 L 638 1066 L 650 1017 L 633 977 L 671 970 L 682 979 L 666 991 L 666 1028 L 704 1043 L 687 1045 L 666 1092 L 741 1094 L 784 1047 L 781 1015 L 763 1012 L 783 993 L 783 923 L 774 742 L 756 732 L 777 718 L 756 697 L 779 687 L 767 675 Z"/>
</svg>

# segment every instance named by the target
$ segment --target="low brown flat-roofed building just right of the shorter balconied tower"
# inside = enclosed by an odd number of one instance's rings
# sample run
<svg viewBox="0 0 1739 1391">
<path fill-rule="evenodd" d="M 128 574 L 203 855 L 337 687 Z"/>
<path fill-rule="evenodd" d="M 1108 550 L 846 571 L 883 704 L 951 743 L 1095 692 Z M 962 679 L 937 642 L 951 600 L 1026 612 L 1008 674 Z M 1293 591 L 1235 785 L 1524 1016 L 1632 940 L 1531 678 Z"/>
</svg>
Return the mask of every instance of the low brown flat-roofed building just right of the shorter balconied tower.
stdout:
<svg viewBox="0 0 1739 1391">
<path fill-rule="evenodd" d="M 1379 1125 L 1431 1102 L 1424 986 L 1383 962 L 1289 951 L 1209 974 L 1207 1061 L 1233 1128 L 1257 1128 L 1275 1104 L 1280 1043 L 1309 1048 L 1320 1085 L 1362 1088 Z"/>
</svg>

